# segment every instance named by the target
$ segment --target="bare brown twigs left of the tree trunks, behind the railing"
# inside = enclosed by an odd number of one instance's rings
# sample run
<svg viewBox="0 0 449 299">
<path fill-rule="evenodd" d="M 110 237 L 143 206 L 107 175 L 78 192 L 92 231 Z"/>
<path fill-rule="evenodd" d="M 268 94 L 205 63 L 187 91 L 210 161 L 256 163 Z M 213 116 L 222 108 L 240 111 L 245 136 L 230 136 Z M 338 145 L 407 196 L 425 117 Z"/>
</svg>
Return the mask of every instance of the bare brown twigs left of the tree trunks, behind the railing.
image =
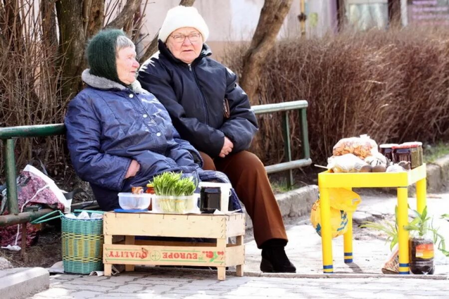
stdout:
<svg viewBox="0 0 449 299">
<path fill-rule="evenodd" d="M 49 15 L 49 14 L 48 14 Z M 47 16 L 48 16 L 47 15 Z M 65 99 L 60 96 L 61 69 L 57 41 L 44 31 L 45 13 L 33 1 L 0 7 L 0 126 L 60 123 Z M 17 164 L 40 156 L 63 159 L 61 138 L 20 139 Z M 2 166 L 2 165 L 1 165 Z M 0 167 L 1 169 L 3 167 Z"/>
</svg>

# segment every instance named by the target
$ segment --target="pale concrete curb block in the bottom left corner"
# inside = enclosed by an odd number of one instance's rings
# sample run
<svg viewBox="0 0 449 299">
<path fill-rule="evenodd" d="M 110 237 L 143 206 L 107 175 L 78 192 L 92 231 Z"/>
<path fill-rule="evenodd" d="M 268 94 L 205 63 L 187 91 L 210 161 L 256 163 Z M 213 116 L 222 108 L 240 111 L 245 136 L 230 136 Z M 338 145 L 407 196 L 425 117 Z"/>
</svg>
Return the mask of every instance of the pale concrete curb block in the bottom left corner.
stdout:
<svg viewBox="0 0 449 299">
<path fill-rule="evenodd" d="M 43 268 L 12 268 L 0 271 L 2 299 L 28 298 L 48 289 L 50 274 Z"/>
</svg>

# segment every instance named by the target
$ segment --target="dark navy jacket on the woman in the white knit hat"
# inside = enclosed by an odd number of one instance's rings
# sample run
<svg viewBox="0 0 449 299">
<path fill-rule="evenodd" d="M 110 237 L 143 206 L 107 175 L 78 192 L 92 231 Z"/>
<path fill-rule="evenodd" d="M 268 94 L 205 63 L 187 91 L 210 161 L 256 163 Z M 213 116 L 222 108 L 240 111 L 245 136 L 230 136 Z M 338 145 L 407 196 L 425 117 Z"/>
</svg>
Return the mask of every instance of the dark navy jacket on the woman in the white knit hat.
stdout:
<svg viewBox="0 0 449 299">
<path fill-rule="evenodd" d="M 137 79 L 167 108 L 181 138 L 217 157 L 225 136 L 234 144 L 232 152 L 238 152 L 249 148 L 258 127 L 237 76 L 209 58 L 211 54 L 204 44 L 200 56 L 188 65 L 159 41 L 159 52 L 142 65 Z M 225 99 L 229 117 L 224 116 Z"/>
</svg>

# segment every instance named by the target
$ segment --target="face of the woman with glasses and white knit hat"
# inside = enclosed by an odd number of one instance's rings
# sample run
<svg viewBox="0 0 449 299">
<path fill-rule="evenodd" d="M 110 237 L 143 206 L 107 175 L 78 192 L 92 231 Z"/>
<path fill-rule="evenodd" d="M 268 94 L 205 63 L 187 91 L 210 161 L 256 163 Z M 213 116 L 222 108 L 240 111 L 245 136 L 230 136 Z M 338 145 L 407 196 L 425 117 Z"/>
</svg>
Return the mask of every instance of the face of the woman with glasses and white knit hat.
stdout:
<svg viewBox="0 0 449 299">
<path fill-rule="evenodd" d="M 192 27 L 176 29 L 165 43 L 173 56 L 185 63 L 192 63 L 200 56 L 203 48 L 203 36 Z"/>
</svg>

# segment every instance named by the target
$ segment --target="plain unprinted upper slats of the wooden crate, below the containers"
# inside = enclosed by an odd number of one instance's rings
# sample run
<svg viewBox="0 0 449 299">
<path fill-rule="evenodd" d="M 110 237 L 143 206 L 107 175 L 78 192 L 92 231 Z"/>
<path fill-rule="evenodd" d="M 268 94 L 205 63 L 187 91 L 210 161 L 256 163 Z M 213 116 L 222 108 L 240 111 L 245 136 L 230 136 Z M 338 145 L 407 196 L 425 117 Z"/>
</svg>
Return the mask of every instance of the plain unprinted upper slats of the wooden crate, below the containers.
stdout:
<svg viewBox="0 0 449 299">
<path fill-rule="evenodd" d="M 214 216 L 105 213 L 103 224 L 105 235 L 225 238 L 244 234 L 241 213 Z"/>
</svg>

